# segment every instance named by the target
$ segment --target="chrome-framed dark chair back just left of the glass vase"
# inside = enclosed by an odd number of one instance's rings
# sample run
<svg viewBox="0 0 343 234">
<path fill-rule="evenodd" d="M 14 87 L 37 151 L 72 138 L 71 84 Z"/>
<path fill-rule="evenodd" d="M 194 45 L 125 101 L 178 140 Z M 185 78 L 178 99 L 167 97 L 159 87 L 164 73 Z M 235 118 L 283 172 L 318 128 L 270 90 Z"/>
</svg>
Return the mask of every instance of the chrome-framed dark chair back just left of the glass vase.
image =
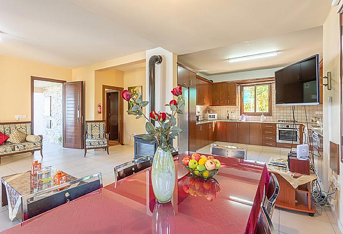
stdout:
<svg viewBox="0 0 343 234">
<path fill-rule="evenodd" d="M 152 157 L 149 155 L 114 167 L 114 186 L 117 186 L 118 180 L 151 167 L 151 162 Z"/>
</svg>

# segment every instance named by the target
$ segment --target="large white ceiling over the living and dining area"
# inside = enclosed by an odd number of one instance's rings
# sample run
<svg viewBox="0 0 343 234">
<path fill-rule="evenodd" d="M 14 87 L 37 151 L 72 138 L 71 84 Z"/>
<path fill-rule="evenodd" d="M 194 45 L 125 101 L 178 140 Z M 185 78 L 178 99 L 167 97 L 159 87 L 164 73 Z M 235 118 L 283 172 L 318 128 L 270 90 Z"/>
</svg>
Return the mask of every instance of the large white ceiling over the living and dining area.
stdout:
<svg viewBox="0 0 343 234">
<path fill-rule="evenodd" d="M 79 67 L 155 47 L 186 54 L 323 25 L 331 0 L 1 1 L 0 55 Z"/>
</svg>

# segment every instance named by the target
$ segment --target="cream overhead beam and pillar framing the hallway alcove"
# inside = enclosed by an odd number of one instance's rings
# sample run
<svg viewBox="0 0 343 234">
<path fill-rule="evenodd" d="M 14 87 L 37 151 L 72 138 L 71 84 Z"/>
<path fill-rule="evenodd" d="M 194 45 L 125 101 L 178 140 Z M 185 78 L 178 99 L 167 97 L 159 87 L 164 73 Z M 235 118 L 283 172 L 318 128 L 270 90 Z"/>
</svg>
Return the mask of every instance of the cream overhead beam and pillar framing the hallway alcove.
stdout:
<svg viewBox="0 0 343 234">
<path fill-rule="evenodd" d="M 99 103 L 95 103 L 95 70 L 110 68 L 135 61 L 145 60 L 146 52 L 140 52 L 120 58 L 90 64 L 87 66 L 73 69 L 73 81 L 85 81 L 85 118 L 88 120 L 95 119 L 96 107 Z M 96 117 L 98 118 L 98 117 Z"/>
</svg>

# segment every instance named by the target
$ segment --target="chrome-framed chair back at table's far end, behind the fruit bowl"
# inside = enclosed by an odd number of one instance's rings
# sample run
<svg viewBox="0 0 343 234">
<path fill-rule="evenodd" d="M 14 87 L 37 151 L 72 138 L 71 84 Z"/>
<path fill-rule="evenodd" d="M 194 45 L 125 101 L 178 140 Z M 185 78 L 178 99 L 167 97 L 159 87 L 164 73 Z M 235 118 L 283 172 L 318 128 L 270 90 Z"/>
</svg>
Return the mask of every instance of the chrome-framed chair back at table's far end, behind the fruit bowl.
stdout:
<svg viewBox="0 0 343 234">
<path fill-rule="evenodd" d="M 211 154 L 232 157 L 238 159 L 247 159 L 246 147 L 235 147 L 229 145 L 211 144 Z"/>
</svg>

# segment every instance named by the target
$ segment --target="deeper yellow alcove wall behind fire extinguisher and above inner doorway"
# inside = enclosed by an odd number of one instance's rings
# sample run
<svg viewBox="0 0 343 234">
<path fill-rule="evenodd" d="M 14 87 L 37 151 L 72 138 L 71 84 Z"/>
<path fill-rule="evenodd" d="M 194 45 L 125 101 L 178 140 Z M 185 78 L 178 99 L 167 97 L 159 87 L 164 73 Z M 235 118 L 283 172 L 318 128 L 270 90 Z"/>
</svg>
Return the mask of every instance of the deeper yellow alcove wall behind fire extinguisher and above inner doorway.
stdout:
<svg viewBox="0 0 343 234">
<path fill-rule="evenodd" d="M 110 85 L 123 88 L 124 72 L 116 69 L 95 71 L 94 82 L 94 119 L 101 120 L 102 114 L 98 114 L 97 106 L 101 104 L 102 108 L 102 85 Z M 90 120 L 90 119 L 89 119 Z"/>
</svg>

